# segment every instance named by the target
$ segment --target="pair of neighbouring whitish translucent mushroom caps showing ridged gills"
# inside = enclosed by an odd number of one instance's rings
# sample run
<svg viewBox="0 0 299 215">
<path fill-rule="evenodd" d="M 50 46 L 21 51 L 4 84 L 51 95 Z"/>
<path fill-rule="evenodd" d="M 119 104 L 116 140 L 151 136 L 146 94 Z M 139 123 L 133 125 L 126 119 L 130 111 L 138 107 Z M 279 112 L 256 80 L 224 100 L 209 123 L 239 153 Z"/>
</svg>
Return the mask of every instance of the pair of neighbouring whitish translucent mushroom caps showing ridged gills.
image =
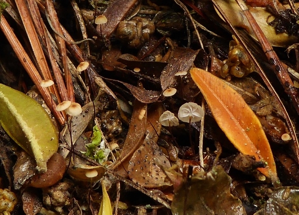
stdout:
<svg viewBox="0 0 299 215">
<path fill-rule="evenodd" d="M 197 122 L 202 119 L 202 117 L 205 115 L 205 112 L 203 108 L 196 103 L 188 102 L 183 104 L 179 108 L 178 117 L 183 122 Z M 163 126 L 178 126 L 179 125 L 179 119 L 175 116 L 174 113 L 170 112 L 169 110 L 166 110 L 159 118 L 159 122 Z"/>
</svg>

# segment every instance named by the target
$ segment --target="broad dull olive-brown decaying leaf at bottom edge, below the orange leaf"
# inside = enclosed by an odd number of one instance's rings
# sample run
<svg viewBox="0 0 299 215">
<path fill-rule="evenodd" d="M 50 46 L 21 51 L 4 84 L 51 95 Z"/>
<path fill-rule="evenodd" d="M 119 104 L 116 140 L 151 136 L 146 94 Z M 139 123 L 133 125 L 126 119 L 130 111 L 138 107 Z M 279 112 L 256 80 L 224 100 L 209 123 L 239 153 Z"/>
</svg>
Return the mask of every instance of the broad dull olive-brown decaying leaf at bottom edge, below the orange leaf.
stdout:
<svg viewBox="0 0 299 215">
<path fill-rule="evenodd" d="M 189 189 L 188 183 L 183 182 L 175 191 L 173 215 L 245 215 L 242 202 L 230 192 L 231 183 L 231 177 L 221 166 L 199 172 L 192 176 Z"/>
</svg>

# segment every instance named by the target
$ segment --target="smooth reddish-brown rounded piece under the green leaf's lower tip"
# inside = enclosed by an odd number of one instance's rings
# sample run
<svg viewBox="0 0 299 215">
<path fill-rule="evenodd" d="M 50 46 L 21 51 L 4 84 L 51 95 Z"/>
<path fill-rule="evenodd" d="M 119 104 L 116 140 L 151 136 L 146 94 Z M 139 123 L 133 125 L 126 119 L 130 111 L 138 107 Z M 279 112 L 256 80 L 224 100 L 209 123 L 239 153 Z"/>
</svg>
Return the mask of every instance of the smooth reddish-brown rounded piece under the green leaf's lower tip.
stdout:
<svg viewBox="0 0 299 215">
<path fill-rule="evenodd" d="M 55 153 L 47 162 L 47 171 L 34 175 L 31 178 L 29 186 L 34 188 L 50 187 L 62 179 L 65 168 L 66 165 L 63 157 Z"/>
</svg>

